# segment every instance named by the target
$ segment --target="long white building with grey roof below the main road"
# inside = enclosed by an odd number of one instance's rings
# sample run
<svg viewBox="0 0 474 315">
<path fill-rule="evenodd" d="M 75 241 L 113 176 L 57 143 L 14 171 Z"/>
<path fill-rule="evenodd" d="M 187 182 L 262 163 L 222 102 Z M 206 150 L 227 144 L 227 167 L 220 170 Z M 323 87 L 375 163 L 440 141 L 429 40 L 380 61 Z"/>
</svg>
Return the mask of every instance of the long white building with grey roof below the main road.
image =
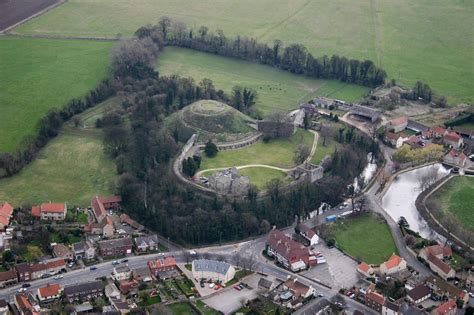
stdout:
<svg viewBox="0 0 474 315">
<path fill-rule="evenodd" d="M 194 279 L 211 279 L 226 283 L 235 276 L 235 269 L 232 265 L 217 260 L 195 259 L 192 262 Z"/>
</svg>

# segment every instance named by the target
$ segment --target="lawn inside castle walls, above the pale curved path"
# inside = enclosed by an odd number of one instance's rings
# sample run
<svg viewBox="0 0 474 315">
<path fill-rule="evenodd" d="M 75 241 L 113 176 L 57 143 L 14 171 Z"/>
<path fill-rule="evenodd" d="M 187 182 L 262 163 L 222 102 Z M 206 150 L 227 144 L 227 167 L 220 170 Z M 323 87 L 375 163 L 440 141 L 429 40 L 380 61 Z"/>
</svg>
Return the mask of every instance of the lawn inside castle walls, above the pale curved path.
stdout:
<svg viewBox="0 0 474 315">
<path fill-rule="evenodd" d="M 259 141 L 238 150 L 222 151 L 213 158 L 203 156 L 201 169 L 232 167 L 247 164 L 265 164 L 278 167 L 294 165 L 293 155 L 298 144 L 304 143 L 311 147 L 314 136 L 309 131 L 298 129 L 289 138 L 270 140 L 268 143 Z"/>
</svg>

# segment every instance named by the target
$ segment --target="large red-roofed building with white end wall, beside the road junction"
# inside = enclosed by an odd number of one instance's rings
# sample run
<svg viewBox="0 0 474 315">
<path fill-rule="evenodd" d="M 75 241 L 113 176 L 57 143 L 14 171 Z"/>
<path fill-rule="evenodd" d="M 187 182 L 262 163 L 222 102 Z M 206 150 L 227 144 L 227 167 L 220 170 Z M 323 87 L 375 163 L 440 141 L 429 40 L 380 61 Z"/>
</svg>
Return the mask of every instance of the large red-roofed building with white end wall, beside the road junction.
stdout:
<svg viewBox="0 0 474 315">
<path fill-rule="evenodd" d="M 267 237 L 266 245 L 267 255 L 274 257 L 285 268 L 291 271 L 306 269 L 311 263 L 316 264 L 316 259 L 311 259 L 308 248 L 302 246 L 286 236 L 280 230 L 273 228 Z"/>
</svg>

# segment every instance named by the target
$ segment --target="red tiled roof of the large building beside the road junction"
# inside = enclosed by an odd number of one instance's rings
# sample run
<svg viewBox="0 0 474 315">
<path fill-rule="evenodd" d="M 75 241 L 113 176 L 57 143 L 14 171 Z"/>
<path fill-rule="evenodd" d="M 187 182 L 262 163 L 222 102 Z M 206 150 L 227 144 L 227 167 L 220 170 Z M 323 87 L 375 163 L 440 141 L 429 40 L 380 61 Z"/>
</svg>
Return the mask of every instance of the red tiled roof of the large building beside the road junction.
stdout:
<svg viewBox="0 0 474 315">
<path fill-rule="evenodd" d="M 303 259 L 307 263 L 309 252 L 300 243 L 288 238 L 283 232 L 272 229 L 267 237 L 267 244 L 288 261 Z"/>
</svg>

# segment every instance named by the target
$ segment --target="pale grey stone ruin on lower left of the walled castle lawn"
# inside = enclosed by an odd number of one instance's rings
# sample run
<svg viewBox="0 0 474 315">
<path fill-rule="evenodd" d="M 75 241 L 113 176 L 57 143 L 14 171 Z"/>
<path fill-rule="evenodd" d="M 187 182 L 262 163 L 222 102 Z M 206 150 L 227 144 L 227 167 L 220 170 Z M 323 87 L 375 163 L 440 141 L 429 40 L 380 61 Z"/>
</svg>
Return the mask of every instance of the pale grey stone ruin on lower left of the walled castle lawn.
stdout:
<svg viewBox="0 0 474 315">
<path fill-rule="evenodd" d="M 239 175 L 239 170 L 232 167 L 210 176 L 209 187 L 219 194 L 243 196 L 250 188 L 250 178 Z"/>
</svg>

